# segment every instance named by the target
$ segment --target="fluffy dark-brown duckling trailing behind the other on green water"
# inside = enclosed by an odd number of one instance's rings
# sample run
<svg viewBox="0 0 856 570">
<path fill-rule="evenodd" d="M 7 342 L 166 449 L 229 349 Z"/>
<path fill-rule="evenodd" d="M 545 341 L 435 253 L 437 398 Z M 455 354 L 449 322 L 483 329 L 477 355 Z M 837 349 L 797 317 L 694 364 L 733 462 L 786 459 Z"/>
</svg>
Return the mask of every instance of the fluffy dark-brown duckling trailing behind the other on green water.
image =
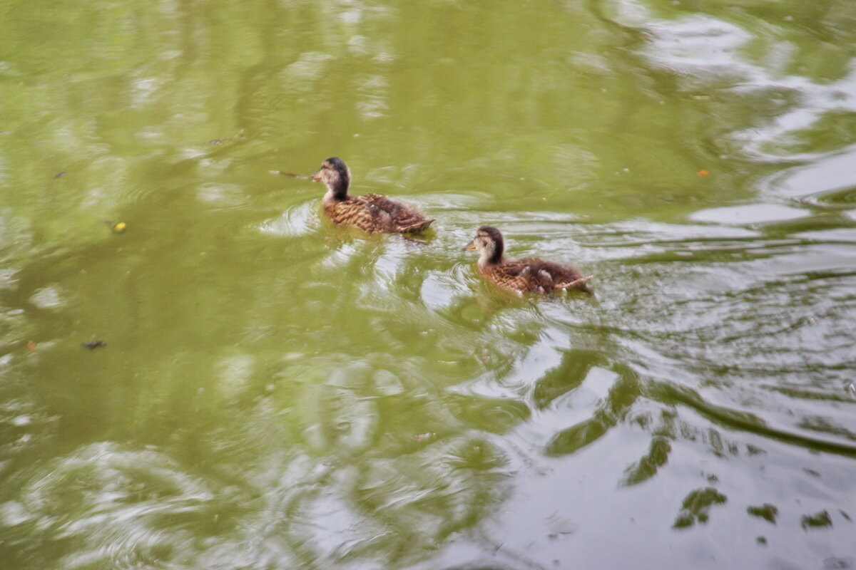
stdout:
<svg viewBox="0 0 856 570">
<path fill-rule="evenodd" d="M 568 289 L 591 294 L 586 283 L 591 281 L 594 275 L 583 277 L 575 267 L 535 257 L 524 257 L 518 261 L 506 260 L 502 256 L 505 242 L 496 227 L 479 227 L 476 237 L 464 249 L 479 250 L 479 272 L 485 278 L 519 294 L 538 292 L 546 295 Z"/>
</svg>

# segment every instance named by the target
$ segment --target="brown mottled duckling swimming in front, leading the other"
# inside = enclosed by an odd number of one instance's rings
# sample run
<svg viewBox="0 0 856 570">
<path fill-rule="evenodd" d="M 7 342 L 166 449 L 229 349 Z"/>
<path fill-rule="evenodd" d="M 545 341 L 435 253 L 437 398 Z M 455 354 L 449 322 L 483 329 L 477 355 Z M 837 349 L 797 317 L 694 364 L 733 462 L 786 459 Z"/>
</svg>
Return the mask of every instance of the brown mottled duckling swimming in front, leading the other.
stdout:
<svg viewBox="0 0 856 570">
<path fill-rule="evenodd" d="M 357 226 L 369 233 L 415 233 L 436 219 L 380 194 L 348 195 L 351 171 L 339 158 L 325 160 L 312 180 L 327 185 L 324 213 L 336 224 Z"/>
</svg>

